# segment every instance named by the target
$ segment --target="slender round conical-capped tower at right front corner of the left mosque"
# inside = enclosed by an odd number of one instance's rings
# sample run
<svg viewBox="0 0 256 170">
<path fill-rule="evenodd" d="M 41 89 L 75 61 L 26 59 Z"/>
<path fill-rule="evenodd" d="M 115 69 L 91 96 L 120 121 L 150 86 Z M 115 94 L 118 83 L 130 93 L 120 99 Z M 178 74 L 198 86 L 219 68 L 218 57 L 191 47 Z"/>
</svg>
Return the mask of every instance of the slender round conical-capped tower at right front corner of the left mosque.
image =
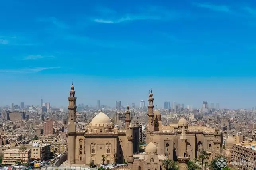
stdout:
<svg viewBox="0 0 256 170">
<path fill-rule="evenodd" d="M 130 123 L 128 129 L 126 130 L 126 135 L 128 139 L 128 168 L 133 169 L 133 125 Z"/>
</svg>

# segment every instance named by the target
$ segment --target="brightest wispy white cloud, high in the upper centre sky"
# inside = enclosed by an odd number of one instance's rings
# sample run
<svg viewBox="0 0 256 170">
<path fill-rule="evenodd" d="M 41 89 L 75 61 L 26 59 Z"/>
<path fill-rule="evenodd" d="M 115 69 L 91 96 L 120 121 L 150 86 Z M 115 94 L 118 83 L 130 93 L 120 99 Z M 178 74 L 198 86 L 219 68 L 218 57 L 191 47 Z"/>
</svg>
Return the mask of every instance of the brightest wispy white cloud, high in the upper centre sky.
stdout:
<svg viewBox="0 0 256 170">
<path fill-rule="evenodd" d="M 104 15 L 103 11 L 107 11 L 107 13 Z M 126 13 L 124 15 L 118 15 L 113 10 L 102 10 L 101 14 L 104 17 L 96 17 L 92 20 L 97 23 L 113 24 L 139 20 L 173 20 L 182 17 L 177 11 L 166 10 L 162 7 L 141 8 L 137 13 Z"/>
</svg>

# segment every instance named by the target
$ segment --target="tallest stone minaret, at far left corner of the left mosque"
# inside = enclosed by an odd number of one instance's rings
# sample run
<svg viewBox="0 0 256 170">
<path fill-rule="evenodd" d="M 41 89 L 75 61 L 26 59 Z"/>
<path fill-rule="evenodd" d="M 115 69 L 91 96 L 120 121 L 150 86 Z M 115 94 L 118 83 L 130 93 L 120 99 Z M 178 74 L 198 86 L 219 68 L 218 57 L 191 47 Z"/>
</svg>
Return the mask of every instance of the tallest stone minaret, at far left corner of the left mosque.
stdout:
<svg viewBox="0 0 256 170">
<path fill-rule="evenodd" d="M 75 164 L 76 156 L 76 97 L 72 82 L 70 97 L 68 97 L 68 164 Z"/>
</svg>

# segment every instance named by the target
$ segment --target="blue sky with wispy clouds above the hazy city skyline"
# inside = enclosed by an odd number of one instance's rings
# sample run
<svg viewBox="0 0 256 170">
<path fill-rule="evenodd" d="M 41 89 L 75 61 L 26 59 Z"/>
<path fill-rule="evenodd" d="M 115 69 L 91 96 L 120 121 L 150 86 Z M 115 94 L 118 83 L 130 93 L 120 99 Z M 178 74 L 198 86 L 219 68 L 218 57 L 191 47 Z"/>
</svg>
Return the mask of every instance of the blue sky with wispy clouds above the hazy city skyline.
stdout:
<svg viewBox="0 0 256 170">
<path fill-rule="evenodd" d="M 0 105 L 139 105 L 153 88 L 201 107 L 256 105 L 256 2 L 8 0 L 0 10 Z"/>
</svg>

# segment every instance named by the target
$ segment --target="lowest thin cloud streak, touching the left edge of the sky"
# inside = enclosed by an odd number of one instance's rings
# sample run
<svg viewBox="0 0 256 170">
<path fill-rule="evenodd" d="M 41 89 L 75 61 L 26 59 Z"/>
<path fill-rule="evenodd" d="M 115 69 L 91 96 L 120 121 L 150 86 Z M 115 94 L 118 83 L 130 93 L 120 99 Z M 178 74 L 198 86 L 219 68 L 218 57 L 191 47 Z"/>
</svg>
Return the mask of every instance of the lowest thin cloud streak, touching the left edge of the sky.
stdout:
<svg viewBox="0 0 256 170">
<path fill-rule="evenodd" d="M 29 67 L 15 70 L 0 70 L 2 73 L 38 73 L 48 69 L 59 69 L 60 67 Z"/>
</svg>

